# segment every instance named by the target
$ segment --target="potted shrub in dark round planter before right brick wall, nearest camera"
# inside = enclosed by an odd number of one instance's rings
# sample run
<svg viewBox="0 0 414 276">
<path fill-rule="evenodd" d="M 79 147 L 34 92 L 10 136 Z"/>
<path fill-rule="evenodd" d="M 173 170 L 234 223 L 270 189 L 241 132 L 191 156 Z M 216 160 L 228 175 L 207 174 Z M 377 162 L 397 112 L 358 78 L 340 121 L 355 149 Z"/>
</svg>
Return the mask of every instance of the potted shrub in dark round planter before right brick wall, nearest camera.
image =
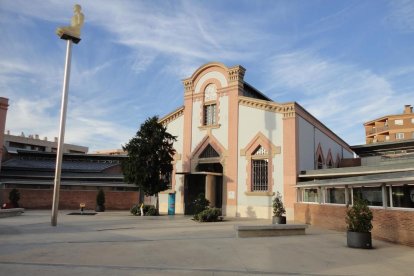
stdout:
<svg viewBox="0 0 414 276">
<path fill-rule="evenodd" d="M 372 212 L 366 200 L 355 198 L 354 205 L 346 210 L 347 245 L 352 248 L 372 248 Z"/>
</svg>

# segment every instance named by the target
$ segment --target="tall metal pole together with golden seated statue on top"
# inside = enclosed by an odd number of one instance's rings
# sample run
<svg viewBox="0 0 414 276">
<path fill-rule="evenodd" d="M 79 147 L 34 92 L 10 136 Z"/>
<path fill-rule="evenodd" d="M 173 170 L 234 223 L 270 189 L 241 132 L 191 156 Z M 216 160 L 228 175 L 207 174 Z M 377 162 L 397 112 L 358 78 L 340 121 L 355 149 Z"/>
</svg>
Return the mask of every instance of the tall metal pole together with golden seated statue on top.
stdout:
<svg viewBox="0 0 414 276">
<path fill-rule="evenodd" d="M 52 204 L 52 226 L 57 225 L 57 215 L 59 207 L 59 191 L 60 191 L 60 175 L 62 171 L 62 157 L 63 157 L 63 145 L 65 138 L 65 125 L 66 125 L 66 109 L 68 100 L 68 88 L 70 77 L 70 62 L 72 58 L 72 42 L 78 44 L 80 39 L 80 30 L 83 26 L 85 16 L 81 12 L 81 6 L 75 5 L 73 7 L 74 15 L 71 20 L 70 26 L 59 27 L 56 29 L 56 34 L 67 41 L 66 47 L 66 59 L 65 59 L 65 72 L 63 76 L 63 92 L 62 92 L 62 104 L 60 111 L 60 132 L 56 154 L 56 170 L 55 170 L 55 185 L 53 189 L 53 204 Z"/>
</svg>

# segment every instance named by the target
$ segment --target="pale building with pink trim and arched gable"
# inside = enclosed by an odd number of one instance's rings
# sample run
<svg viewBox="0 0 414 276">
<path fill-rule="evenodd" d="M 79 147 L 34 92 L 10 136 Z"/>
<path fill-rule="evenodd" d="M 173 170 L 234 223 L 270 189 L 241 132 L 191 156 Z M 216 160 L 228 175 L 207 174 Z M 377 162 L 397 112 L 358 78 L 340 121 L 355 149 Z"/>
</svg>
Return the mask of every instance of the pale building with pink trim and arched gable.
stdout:
<svg viewBox="0 0 414 276">
<path fill-rule="evenodd" d="M 294 219 L 300 171 L 339 166 L 353 151 L 296 102 L 277 103 L 244 81 L 242 66 L 208 63 L 183 80 L 184 105 L 160 119 L 178 137 L 160 210 L 191 214 L 203 193 L 226 216 L 270 218 L 276 192 Z"/>
</svg>

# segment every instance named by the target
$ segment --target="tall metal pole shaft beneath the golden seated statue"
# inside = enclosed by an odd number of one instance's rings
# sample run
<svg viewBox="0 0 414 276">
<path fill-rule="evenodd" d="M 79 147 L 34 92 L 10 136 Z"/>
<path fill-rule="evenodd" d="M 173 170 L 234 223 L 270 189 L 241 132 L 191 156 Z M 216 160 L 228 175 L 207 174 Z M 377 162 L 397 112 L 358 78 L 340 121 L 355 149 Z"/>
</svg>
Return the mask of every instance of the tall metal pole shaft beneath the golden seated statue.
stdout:
<svg viewBox="0 0 414 276">
<path fill-rule="evenodd" d="M 52 226 L 57 225 L 57 215 L 59 209 L 59 191 L 60 191 L 60 175 L 62 171 L 63 146 L 65 138 L 66 125 L 66 110 L 68 101 L 69 78 L 70 78 L 70 62 L 72 58 L 72 40 L 67 40 L 66 59 L 65 59 L 65 73 L 63 77 L 63 92 L 62 105 L 60 112 L 60 133 L 56 155 L 56 171 L 55 171 L 55 186 L 53 190 L 53 205 L 52 205 Z"/>
</svg>

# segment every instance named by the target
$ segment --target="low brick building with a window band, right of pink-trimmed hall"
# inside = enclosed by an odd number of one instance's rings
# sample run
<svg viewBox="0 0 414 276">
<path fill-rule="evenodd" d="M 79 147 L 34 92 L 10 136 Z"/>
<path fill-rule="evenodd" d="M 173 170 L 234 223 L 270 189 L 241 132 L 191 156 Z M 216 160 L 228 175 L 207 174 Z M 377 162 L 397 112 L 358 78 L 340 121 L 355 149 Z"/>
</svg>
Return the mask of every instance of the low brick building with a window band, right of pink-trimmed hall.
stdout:
<svg viewBox="0 0 414 276">
<path fill-rule="evenodd" d="M 346 206 L 359 196 L 373 212 L 375 238 L 414 246 L 414 139 L 351 148 L 361 166 L 299 175 L 295 219 L 346 230 Z"/>
</svg>

